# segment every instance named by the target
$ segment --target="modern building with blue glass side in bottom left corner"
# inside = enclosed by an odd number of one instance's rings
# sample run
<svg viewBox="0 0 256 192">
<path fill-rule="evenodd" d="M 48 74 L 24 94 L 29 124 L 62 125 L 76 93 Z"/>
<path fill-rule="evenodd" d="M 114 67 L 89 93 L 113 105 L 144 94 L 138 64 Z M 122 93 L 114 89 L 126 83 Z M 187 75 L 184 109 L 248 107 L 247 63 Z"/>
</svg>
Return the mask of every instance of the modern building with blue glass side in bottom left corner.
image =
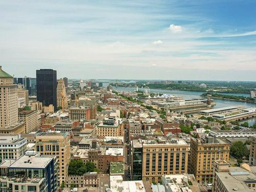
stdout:
<svg viewBox="0 0 256 192">
<path fill-rule="evenodd" d="M 55 192 L 58 190 L 58 163 L 55 157 L 41 157 L 34 151 L 16 160 L 5 160 L 0 164 L 0 191 Z M 3 175 L 2 175 L 3 176 Z"/>
</svg>

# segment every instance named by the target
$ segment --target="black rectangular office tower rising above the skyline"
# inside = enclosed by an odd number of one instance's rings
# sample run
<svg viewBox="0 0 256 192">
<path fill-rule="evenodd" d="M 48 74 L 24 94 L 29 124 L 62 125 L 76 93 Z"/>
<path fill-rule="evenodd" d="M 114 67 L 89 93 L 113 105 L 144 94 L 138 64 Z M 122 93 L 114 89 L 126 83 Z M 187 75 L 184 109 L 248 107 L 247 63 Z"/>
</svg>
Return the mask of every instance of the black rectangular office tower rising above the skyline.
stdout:
<svg viewBox="0 0 256 192">
<path fill-rule="evenodd" d="M 36 98 L 43 106 L 57 110 L 57 72 L 52 69 L 36 70 Z"/>
</svg>

